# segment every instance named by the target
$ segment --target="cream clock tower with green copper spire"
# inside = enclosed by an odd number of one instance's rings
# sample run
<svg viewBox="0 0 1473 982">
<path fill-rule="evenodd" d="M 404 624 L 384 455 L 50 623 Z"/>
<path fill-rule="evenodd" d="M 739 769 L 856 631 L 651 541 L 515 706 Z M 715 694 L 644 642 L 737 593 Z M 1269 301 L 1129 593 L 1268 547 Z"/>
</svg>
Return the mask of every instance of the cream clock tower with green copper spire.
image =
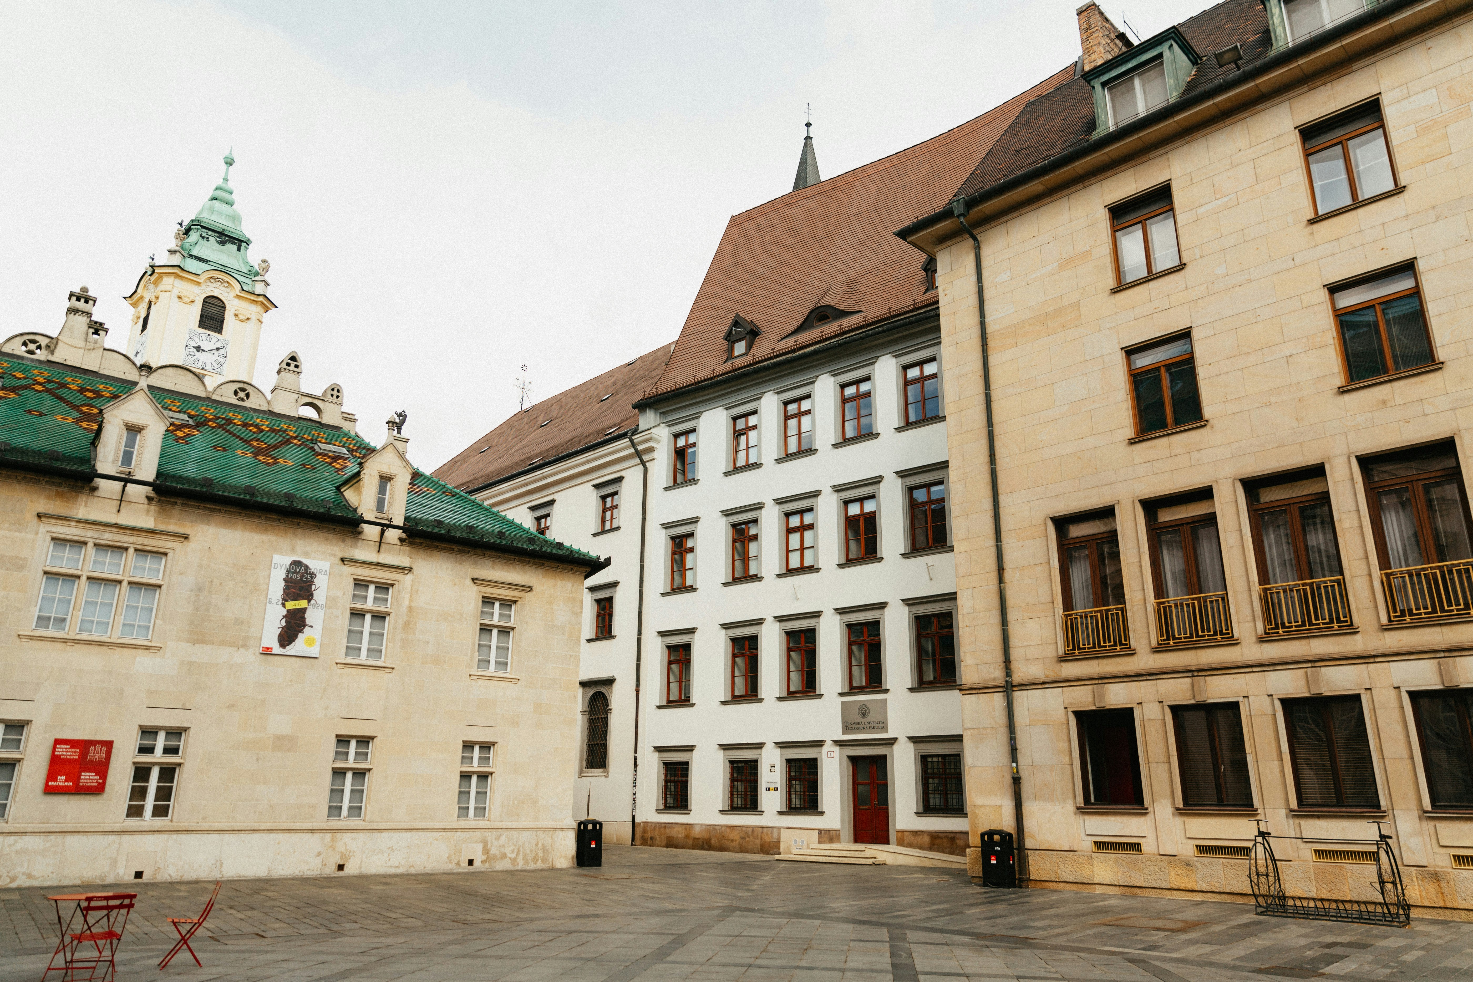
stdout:
<svg viewBox="0 0 1473 982">
<path fill-rule="evenodd" d="M 137 364 L 184 365 L 205 386 L 242 378 L 250 381 L 261 342 L 261 318 L 275 303 L 267 296 L 270 264 L 250 264 L 250 237 L 240 227 L 230 168 L 209 200 L 189 222 L 174 230 L 165 262 L 150 262 L 125 297 L 133 325 L 125 349 Z"/>
</svg>

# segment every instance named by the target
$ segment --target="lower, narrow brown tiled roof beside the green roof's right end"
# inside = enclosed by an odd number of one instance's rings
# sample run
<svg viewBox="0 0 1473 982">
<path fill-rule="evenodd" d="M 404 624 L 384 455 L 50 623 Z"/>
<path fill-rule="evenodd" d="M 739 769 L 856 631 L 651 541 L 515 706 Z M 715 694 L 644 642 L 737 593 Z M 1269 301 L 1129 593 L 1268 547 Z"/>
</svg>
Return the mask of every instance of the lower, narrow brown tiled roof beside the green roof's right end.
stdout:
<svg viewBox="0 0 1473 982">
<path fill-rule="evenodd" d="M 633 428 L 639 414 L 630 403 L 660 375 L 669 356 L 670 345 L 661 345 L 532 403 L 440 465 L 435 477 L 463 490 L 483 487 Z"/>
</svg>

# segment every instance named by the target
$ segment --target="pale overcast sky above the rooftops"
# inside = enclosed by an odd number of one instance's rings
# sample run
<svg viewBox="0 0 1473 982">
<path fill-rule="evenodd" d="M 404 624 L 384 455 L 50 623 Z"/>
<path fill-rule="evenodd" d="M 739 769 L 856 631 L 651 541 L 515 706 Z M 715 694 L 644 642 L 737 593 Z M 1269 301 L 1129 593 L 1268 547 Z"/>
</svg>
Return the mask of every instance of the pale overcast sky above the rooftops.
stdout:
<svg viewBox="0 0 1473 982">
<path fill-rule="evenodd" d="M 533 399 L 675 339 L 726 219 L 925 140 L 1078 54 L 1077 0 L 0 0 L 0 337 L 102 299 L 234 147 L 289 350 L 433 470 Z M 1149 37 L 1206 6 L 1105 3 Z"/>
</svg>

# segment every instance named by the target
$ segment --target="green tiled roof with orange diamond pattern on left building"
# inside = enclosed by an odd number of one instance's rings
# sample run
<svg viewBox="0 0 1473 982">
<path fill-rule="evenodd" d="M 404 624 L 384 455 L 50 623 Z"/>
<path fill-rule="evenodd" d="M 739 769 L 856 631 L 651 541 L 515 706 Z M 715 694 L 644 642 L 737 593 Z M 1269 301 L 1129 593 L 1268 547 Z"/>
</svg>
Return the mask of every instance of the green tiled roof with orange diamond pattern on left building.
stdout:
<svg viewBox="0 0 1473 982">
<path fill-rule="evenodd" d="M 0 464 L 78 478 L 93 474 L 102 411 L 134 384 L 22 358 L 0 359 Z M 169 417 L 156 490 L 305 514 L 342 524 L 362 518 L 340 493 L 376 448 L 346 430 L 164 389 L 149 396 Z M 327 452 L 321 446 L 339 448 Z M 541 558 L 598 564 L 582 549 L 539 536 L 449 484 L 415 473 L 405 502 L 408 530 L 435 539 Z"/>
</svg>

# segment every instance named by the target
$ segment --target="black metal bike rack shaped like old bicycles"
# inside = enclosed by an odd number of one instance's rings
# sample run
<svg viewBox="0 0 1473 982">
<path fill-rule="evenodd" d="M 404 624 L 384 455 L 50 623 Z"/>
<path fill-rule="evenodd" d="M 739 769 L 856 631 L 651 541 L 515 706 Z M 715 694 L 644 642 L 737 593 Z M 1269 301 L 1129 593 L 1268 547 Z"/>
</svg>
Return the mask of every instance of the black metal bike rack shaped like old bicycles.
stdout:
<svg viewBox="0 0 1473 982">
<path fill-rule="evenodd" d="M 1380 822 L 1376 826 L 1374 839 L 1307 839 L 1304 836 L 1271 836 L 1258 822 L 1258 835 L 1254 836 L 1252 861 L 1248 870 L 1248 886 L 1254 892 L 1254 907 L 1259 914 L 1270 917 L 1304 917 L 1308 920 L 1340 920 L 1357 925 L 1389 925 L 1405 928 L 1411 923 L 1411 904 L 1407 902 L 1407 886 L 1401 879 L 1401 866 L 1391 851 L 1391 836 L 1382 830 Z M 1374 845 L 1376 848 L 1376 883 L 1380 889 L 1380 900 L 1326 900 L 1320 897 L 1287 897 L 1283 882 L 1279 879 L 1279 857 L 1274 855 L 1270 838 L 1298 839 L 1301 842 L 1345 842 L 1355 845 Z"/>
</svg>

